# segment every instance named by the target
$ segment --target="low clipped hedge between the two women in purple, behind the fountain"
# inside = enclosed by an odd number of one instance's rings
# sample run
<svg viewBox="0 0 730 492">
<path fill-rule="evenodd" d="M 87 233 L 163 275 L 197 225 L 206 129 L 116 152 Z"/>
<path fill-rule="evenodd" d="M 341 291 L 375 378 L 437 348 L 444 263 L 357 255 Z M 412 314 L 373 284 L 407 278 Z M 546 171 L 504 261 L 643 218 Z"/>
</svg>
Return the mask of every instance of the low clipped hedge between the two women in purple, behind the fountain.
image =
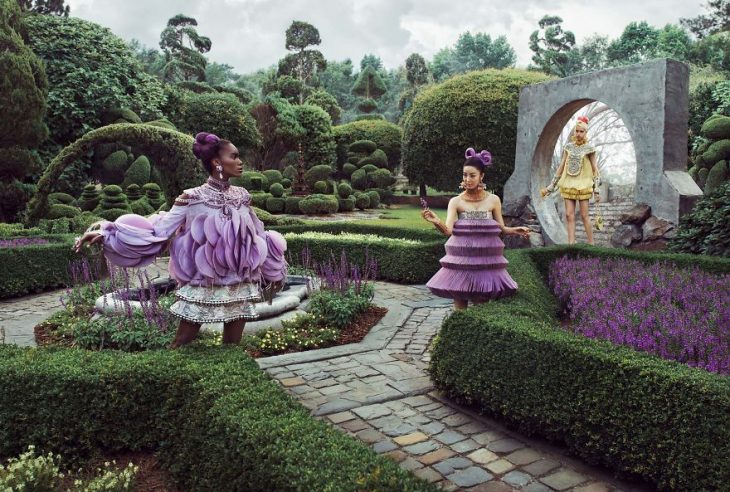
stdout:
<svg viewBox="0 0 730 492">
<path fill-rule="evenodd" d="M 376 234 L 383 237 L 411 239 L 421 241 L 419 244 L 371 245 L 367 254 L 378 260 L 378 279 L 405 284 L 422 284 L 428 281 L 439 269 L 439 259 L 444 255 L 445 238 L 430 230 L 399 229 L 364 224 L 348 224 L 346 222 L 299 226 L 275 226 L 277 231 L 287 232 L 328 232 L 339 234 L 350 232 L 355 234 Z M 362 265 L 365 259 L 364 247 L 353 247 L 350 241 L 331 240 L 311 241 L 304 238 L 287 238 L 290 261 L 297 263 L 301 252 L 308 247 L 312 258 L 317 261 L 329 260 L 332 255 L 339 259 L 344 250 L 350 261 Z"/>
</svg>

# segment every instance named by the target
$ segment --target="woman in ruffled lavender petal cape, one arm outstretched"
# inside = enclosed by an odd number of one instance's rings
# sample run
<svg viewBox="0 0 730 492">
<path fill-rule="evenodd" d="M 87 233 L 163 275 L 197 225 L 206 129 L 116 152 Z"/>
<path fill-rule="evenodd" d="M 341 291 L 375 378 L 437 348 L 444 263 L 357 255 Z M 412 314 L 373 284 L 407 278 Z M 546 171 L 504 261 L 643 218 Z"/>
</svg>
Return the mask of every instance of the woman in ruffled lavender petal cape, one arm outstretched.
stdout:
<svg viewBox="0 0 730 492">
<path fill-rule="evenodd" d="M 210 174 L 201 186 L 185 190 L 169 212 L 149 218 L 128 214 L 101 222 L 76 243 L 101 242 L 115 265 L 141 267 L 170 244 L 170 275 L 177 280 L 171 311 L 180 318 L 173 347 L 195 339 L 201 323 L 223 322 L 223 342 L 238 343 L 247 319 L 257 317 L 253 303 L 262 290 L 280 288 L 286 276 L 286 241 L 250 207 L 251 196 L 231 186 L 243 171 L 236 147 L 210 133 L 195 137 L 193 153 Z"/>
</svg>

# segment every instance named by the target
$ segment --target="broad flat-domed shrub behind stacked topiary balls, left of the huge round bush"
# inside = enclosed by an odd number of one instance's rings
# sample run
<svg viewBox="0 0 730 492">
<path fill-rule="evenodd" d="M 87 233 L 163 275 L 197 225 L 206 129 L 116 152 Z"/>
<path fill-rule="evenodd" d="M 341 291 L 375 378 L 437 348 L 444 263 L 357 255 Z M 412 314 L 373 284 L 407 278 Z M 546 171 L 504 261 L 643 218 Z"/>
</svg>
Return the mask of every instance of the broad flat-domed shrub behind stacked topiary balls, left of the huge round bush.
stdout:
<svg viewBox="0 0 730 492">
<path fill-rule="evenodd" d="M 385 152 L 388 169 L 395 170 L 400 164 L 403 130 L 394 123 L 384 120 L 353 121 L 334 127 L 332 133 L 337 141 L 337 165 L 340 168 L 347 161 L 348 147 L 358 140 L 370 140 L 376 148 Z"/>
</svg>

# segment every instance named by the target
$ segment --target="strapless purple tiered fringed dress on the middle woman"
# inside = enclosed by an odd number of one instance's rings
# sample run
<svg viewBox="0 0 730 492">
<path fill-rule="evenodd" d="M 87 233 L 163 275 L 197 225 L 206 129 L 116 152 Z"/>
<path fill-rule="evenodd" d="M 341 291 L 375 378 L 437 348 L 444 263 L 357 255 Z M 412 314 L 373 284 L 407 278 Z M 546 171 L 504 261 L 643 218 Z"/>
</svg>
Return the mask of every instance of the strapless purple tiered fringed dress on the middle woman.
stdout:
<svg viewBox="0 0 730 492">
<path fill-rule="evenodd" d="M 517 284 L 507 273 L 500 232 L 492 212 L 460 213 L 446 241 L 441 269 L 426 284 L 431 292 L 462 301 L 487 301 L 515 293 Z"/>
</svg>

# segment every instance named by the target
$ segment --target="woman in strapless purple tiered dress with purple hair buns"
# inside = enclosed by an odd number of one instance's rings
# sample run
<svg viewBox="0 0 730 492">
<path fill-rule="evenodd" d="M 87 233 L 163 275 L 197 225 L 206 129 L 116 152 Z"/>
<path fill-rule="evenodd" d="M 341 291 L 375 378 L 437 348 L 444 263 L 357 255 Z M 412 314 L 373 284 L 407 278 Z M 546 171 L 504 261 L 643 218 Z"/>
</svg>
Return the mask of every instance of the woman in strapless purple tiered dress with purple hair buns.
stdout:
<svg viewBox="0 0 730 492">
<path fill-rule="evenodd" d="M 492 156 L 486 150 L 477 154 L 467 149 L 464 162 L 464 192 L 449 201 L 446 223 L 428 208 L 422 216 L 447 236 L 446 256 L 441 269 L 426 284 L 431 292 L 454 300 L 456 309 L 465 309 L 469 301 L 481 303 L 513 294 L 517 284 L 507 273 L 502 256 L 504 243 L 500 233 L 529 237 L 527 227 L 506 227 L 502 220 L 502 203 L 497 195 L 485 190 L 484 172 Z M 458 220 L 457 220 L 458 219 Z"/>
</svg>

